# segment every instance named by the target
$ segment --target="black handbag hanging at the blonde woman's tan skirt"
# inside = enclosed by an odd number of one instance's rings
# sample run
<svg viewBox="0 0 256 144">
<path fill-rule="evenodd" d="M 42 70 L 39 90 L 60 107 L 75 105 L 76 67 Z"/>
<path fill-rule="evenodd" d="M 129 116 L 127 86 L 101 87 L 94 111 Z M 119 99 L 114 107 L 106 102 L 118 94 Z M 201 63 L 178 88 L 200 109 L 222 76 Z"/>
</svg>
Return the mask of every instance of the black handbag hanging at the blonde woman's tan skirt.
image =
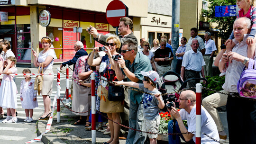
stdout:
<svg viewBox="0 0 256 144">
<path fill-rule="evenodd" d="M 110 72 L 110 81 L 113 79 L 113 73 Z M 122 101 L 125 99 L 124 88 L 119 86 L 109 86 L 109 98 L 110 101 Z"/>
</svg>

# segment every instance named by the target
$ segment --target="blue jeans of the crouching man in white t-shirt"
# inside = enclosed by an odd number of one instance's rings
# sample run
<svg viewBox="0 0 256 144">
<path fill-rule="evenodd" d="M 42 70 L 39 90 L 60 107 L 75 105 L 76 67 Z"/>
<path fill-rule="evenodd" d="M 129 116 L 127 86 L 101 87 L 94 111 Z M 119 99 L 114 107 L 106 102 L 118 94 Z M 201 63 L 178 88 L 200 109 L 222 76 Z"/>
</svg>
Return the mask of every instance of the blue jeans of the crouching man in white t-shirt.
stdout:
<svg viewBox="0 0 256 144">
<path fill-rule="evenodd" d="M 186 127 L 188 129 L 188 127 Z M 170 120 L 168 122 L 168 133 L 169 134 L 173 134 L 173 120 Z M 180 130 L 180 127 L 178 125 L 178 122 L 176 122 L 176 125 L 175 125 L 175 134 L 176 133 L 181 133 L 181 130 Z M 180 139 L 180 136 L 181 138 L 185 141 L 183 135 L 175 135 L 175 138 L 176 140 L 173 139 L 173 135 L 168 135 L 168 139 L 169 139 L 169 144 L 181 144 L 181 139 Z M 186 142 L 186 144 L 195 144 L 195 142 L 193 141 L 193 139 L 191 139 L 189 142 Z"/>
</svg>

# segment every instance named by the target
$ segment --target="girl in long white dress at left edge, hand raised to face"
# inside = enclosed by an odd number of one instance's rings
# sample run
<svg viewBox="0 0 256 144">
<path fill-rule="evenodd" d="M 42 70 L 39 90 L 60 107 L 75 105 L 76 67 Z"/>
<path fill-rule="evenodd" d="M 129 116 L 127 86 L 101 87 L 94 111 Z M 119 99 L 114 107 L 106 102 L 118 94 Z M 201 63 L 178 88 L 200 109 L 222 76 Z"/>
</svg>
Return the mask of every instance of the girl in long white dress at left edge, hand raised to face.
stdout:
<svg viewBox="0 0 256 144">
<path fill-rule="evenodd" d="M 7 74 L 3 76 L 0 87 L 0 107 L 7 108 L 7 118 L 2 121 L 2 123 L 16 123 L 17 117 L 15 114 L 17 105 L 17 87 L 13 81 L 14 76 L 9 74 L 17 73 L 17 68 L 15 67 L 17 60 L 13 56 L 9 56 L 4 61 L 3 65 L 0 67 L 0 73 Z M 3 70 L 4 65 L 6 65 Z M 10 114 L 12 118 L 10 118 Z"/>
</svg>

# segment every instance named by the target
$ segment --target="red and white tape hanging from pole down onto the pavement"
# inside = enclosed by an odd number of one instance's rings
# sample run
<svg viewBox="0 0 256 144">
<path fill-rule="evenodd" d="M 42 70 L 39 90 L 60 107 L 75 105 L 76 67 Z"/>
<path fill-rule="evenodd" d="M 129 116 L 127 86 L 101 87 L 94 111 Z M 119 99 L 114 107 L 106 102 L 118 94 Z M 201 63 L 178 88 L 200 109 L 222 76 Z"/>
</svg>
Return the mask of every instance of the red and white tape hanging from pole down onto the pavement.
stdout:
<svg viewBox="0 0 256 144">
<path fill-rule="evenodd" d="M 35 138 L 35 139 L 31 140 L 31 141 L 28 141 L 25 144 L 30 144 L 30 143 L 34 143 L 34 142 L 37 142 L 37 141 L 41 141 L 42 136 L 44 134 L 48 133 L 51 130 L 51 126 L 52 126 L 52 123 L 53 123 L 53 112 L 55 110 L 56 99 L 57 99 L 57 95 L 54 96 L 53 109 L 52 109 L 51 116 L 50 116 L 50 118 L 49 118 L 49 120 L 47 122 L 47 125 L 46 125 L 46 131 L 44 133 L 42 133 L 41 135 L 37 136 L 37 138 Z"/>
</svg>

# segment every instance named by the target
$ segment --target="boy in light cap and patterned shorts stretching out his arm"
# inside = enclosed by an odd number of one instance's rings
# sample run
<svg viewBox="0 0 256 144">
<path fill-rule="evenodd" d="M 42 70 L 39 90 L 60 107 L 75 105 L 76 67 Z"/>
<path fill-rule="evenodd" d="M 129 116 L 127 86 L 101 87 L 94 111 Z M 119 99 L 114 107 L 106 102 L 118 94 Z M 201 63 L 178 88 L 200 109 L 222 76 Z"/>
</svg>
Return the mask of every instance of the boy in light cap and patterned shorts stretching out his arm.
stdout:
<svg viewBox="0 0 256 144">
<path fill-rule="evenodd" d="M 161 92 L 159 92 L 156 89 L 156 84 L 159 81 L 159 75 L 155 71 L 149 71 L 149 72 L 142 72 L 141 74 L 144 76 L 143 84 L 142 83 L 136 83 L 132 81 L 128 82 L 121 82 L 121 81 L 113 81 L 116 83 L 116 85 L 125 85 L 128 87 L 137 88 L 139 90 L 143 90 L 144 92 L 151 93 L 151 94 L 143 94 L 143 128 L 147 132 L 151 133 L 158 133 L 158 126 L 160 124 L 160 115 L 159 115 L 159 108 L 164 108 L 165 103 L 162 99 L 162 96 L 160 95 Z M 142 129 L 143 130 L 143 129 Z M 147 134 L 150 139 L 150 144 L 157 144 L 156 143 L 156 134 Z"/>
</svg>

